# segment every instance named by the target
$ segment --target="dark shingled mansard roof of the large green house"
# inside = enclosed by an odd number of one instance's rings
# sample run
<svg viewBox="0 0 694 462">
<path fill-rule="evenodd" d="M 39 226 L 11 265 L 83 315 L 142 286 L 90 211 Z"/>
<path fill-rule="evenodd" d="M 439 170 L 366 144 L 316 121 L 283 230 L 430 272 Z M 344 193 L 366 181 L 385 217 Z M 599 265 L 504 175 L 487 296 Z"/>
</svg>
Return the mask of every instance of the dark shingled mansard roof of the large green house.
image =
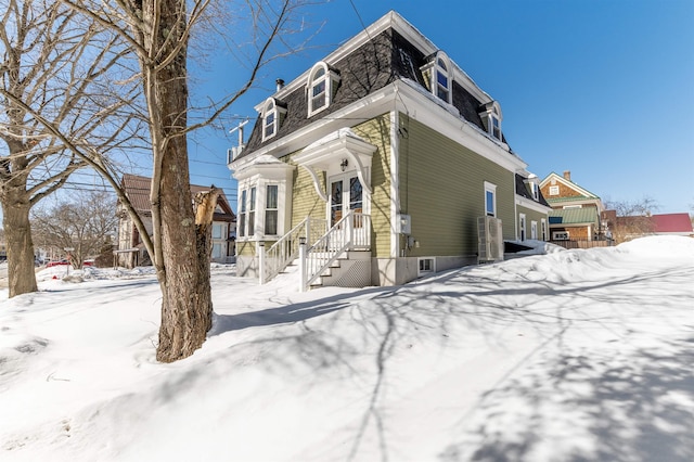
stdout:
<svg viewBox="0 0 694 462">
<path fill-rule="evenodd" d="M 410 80 L 426 88 L 422 67 L 439 50 L 416 28 L 396 12 L 389 12 L 367 30 L 352 37 L 326 56 L 323 62 L 339 73 L 331 104 L 318 114 L 307 117 L 307 81 L 309 70 L 275 92 L 272 98 L 286 107 L 286 114 L 274 137 L 262 140 L 262 103 L 256 107 L 259 115 L 248 142 L 239 158 L 252 154 L 284 136 L 306 127 L 331 114 L 383 89 L 396 80 Z M 475 82 L 452 61 L 451 103 L 461 117 L 486 132 L 479 115 L 486 104 L 492 102 Z M 428 90 L 427 90 L 428 91 Z M 267 101 L 267 100 L 266 100 Z M 503 133 L 502 133 L 503 138 Z M 505 142 L 505 139 L 502 139 Z"/>
</svg>

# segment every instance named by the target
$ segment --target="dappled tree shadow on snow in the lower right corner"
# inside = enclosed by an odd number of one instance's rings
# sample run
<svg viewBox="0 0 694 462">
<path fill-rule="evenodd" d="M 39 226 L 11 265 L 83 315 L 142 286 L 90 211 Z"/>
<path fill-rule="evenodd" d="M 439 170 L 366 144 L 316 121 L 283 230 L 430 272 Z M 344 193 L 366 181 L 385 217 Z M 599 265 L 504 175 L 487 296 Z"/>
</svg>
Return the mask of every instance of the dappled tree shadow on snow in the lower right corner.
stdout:
<svg viewBox="0 0 694 462">
<path fill-rule="evenodd" d="M 694 338 L 616 355 L 548 350 L 487 392 L 439 459 L 692 461 L 692 364 Z"/>
</svg>

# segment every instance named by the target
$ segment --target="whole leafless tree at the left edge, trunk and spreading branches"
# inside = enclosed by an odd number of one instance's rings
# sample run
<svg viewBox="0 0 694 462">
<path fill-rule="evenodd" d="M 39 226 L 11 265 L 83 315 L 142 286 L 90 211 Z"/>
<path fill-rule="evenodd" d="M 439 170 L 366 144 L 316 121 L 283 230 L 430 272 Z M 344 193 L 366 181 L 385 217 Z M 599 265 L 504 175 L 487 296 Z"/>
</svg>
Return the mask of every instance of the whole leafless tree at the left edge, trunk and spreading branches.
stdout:
<svg viewBox="0 0 694 462">
<path fill-rule="evenodd" d="M 128 75 L 119 66 L 129 50 L 92 18 L 51 0 L 0 0 L 0 202 L 13 297 L 37 290 L 29 210 L 88 165 L 68 144 L 89 145 L 105 165 L 137 131 L 124 108 L 139 87 L 114 82 Z"/>
</svg>

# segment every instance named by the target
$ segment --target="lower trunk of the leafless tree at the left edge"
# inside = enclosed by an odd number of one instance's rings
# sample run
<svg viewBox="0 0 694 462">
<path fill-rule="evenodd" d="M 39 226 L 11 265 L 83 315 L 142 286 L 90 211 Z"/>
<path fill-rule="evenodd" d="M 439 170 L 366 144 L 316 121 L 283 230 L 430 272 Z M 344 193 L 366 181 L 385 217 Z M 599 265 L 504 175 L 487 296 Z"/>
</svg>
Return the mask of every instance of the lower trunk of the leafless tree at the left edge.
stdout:
<svg viewBox="0 0 694 462">
<path fill-rule="evenodd" d="M 26 194 L 5 191 L 2 201 L 2 227 L 8 246 L 10 298 L 37 291 L 34 271 L 34 243 Z"/>
</svg>

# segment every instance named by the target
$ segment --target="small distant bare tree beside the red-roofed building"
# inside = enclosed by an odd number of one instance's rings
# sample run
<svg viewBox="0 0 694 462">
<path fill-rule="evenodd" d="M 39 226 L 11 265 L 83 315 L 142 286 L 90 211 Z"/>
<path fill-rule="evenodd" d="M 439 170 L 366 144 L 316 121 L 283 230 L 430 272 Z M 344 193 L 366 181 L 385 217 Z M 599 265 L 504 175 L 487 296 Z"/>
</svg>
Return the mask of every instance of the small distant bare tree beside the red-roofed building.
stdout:
<svg viewBox="0 0 694 462">
<path fill-rule="evenodd" d="M 657 202 L 651 197 L 641 201 L 608 201 L 605 209 L 612 218 L 607 227 L 617 244 L 629 241 L 635 236 L 653 233 L 653 219 L 651 216 L 659 208 Z"/>
</svg>

